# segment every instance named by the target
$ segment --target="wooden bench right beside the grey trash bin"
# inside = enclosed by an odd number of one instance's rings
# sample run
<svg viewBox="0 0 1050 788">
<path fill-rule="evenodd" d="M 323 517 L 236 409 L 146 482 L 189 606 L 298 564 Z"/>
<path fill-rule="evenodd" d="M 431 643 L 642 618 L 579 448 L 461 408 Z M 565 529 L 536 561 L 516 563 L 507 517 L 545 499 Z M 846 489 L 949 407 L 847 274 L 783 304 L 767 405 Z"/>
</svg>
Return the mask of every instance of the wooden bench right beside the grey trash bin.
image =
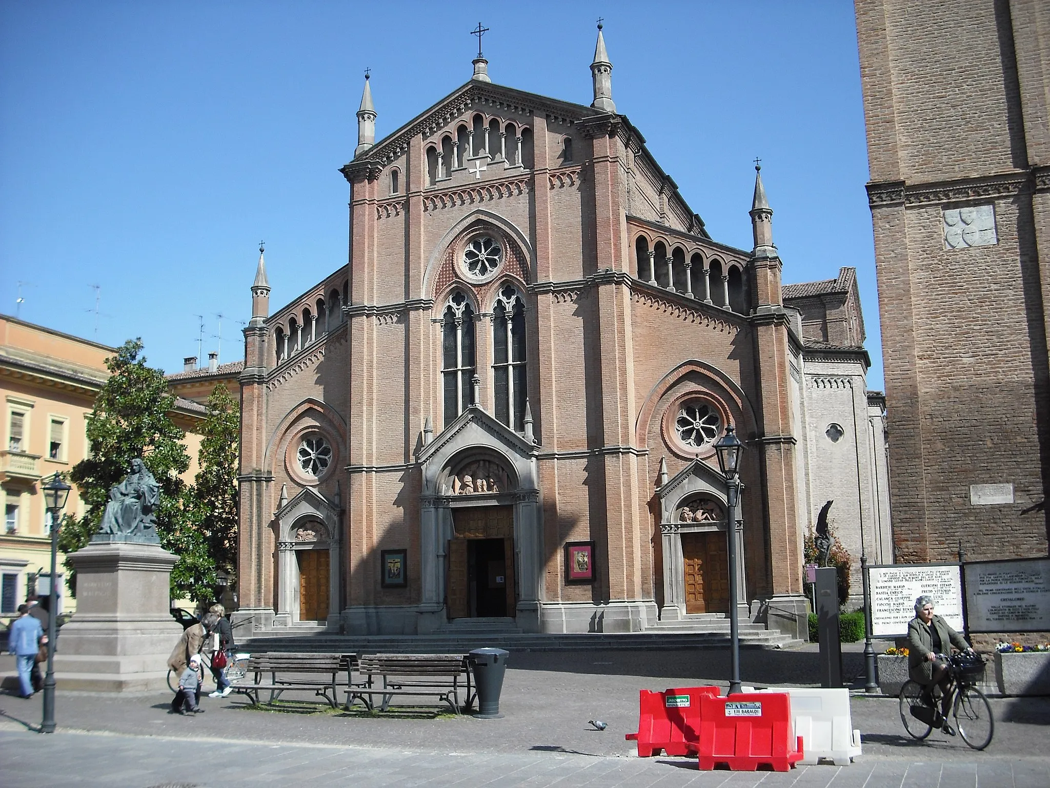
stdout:
<svg viewBox="0 0 1050 788">
<path fill-rule="evenodd" d="M 457 714 L 470 708 L 474 702 L 470 668 L 463 655 L 363 655 L 357 661 L 357 672 L 363 681 L 346 690 L 348 710 L 356 699 L 360 699 L 371 711 L 375 707 L 374 696 L 382 699 L 380 709 L 383 711 L 396 696 L 433 696 L 447 703 Z M 459 699 L 461 688 L 464 692 L 462 704 Z"/>
</svg>

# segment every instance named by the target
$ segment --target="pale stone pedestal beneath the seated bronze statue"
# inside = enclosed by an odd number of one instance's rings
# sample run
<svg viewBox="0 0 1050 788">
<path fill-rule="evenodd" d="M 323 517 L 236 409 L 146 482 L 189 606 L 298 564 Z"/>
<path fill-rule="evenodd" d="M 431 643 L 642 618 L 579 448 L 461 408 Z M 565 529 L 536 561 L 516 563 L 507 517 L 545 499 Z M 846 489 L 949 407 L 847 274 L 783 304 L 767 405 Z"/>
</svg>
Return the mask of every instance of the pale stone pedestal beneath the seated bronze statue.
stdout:
<svg viewBox="0 0 1050 788">
<path fill-rule="evenodd" d="M 77 613 L 55 654 L 60 689 L 138 692 L 167 689 L 168 657 L 182 636 L 170 614 L 178 557 L 159 544 L 92 542 L 70 556 Z"/>
</svg>

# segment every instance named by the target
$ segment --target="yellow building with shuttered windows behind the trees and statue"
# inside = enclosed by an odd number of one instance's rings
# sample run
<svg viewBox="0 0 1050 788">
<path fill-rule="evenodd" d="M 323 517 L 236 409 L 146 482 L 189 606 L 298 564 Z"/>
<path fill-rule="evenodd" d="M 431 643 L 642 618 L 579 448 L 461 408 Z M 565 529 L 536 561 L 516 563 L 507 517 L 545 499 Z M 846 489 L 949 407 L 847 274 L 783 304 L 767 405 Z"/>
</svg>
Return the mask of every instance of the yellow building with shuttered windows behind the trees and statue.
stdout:
<svg viewBox="0 0 1050 788">
<path fill-rule="evenodd" d="M 56 471 L 66 473 L 87 452 L 86 415 L 109 373 L 105 360 L 116 348 L 0 315 L 0 619 L 16 611 L 36 590 L 38 574 L 50 568 L 50 522 L 41 484 Z M 204 418 L 198 402 L 180 397 L 171 414 L 187 431 L 190 469 L 196 473 L 201 439 L 193 434 Z M 65 513 L 84 514 L 76 486 Z M 59 556 L 59 572 L 62 560 Z M 59 609 L 76 601 L 64 583 Z"/>
</svg>

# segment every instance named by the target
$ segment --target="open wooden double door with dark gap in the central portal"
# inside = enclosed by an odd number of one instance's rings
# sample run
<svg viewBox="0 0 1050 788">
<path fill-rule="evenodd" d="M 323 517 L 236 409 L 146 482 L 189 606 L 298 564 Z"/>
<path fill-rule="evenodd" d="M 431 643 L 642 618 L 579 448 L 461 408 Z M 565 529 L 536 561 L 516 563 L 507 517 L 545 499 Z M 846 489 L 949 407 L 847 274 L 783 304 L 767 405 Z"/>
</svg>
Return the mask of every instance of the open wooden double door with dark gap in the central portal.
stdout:
<svg viewBox="0 0 1050 788">
<path fill-rule="evenodd" d="M 448 618 L 514 618 L 513 507 L 454 510 L 453 528 L 446 551 Z"/>
</svg>

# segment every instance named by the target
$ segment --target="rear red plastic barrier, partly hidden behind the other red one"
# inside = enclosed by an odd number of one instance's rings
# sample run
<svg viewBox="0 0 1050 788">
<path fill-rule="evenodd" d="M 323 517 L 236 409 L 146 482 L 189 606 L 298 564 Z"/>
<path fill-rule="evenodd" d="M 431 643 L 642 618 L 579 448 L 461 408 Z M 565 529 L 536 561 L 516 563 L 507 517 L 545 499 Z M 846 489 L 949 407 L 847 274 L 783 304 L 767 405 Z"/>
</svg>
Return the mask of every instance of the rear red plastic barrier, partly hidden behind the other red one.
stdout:
<svg viewBox="0 0 1050 788">
<path fill-rule="evenodd" d="M 699 741 L 700 699 L 716 698 L 718 687 L 686 687 L 666 692 L 638 691 L 638 732 L 625 739 L 638 743 L 638 758 L 664 750 L 668 755 L 696 752 Z"/>
</svg>

